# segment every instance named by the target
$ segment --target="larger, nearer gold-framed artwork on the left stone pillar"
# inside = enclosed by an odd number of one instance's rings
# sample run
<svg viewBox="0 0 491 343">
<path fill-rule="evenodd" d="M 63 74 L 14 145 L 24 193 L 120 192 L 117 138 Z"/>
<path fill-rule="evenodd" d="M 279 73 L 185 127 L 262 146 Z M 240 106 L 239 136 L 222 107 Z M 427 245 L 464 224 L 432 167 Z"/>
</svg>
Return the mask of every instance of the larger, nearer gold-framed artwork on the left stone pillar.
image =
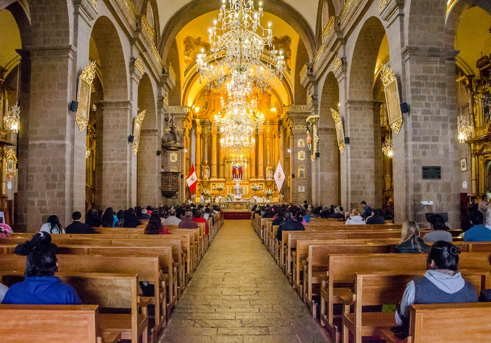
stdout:
<svg viewBox="0 0 491 343">
<path fill-rule="evenodd" d="M 79 76 L 79 85 L 77 89 L 77 101 L 79 106 L 77 107 L 77 114 L 75 116 L 75 122 L 79 127 L 79 131 L 83 132 L 87 128 L 89 122 L 89 110 L 90 110 L 90 92 L 92 90 L 92 81 L 95 77 L 95 61 L 90 62 Z"/>
</svg>

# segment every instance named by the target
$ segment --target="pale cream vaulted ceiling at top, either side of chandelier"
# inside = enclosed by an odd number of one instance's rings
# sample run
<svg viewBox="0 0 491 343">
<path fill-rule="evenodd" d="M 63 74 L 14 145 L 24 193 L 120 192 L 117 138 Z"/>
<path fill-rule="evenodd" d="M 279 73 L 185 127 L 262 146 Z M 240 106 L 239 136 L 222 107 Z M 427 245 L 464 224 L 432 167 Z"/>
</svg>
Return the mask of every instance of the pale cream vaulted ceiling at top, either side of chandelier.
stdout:
<svg viewBox="0 0 491 343">
<path fill-rule="evenodd" d="M 159 19 L 160 27 L 164 29 L 165 25 L 169 19 L 179 11 L 180 8 L 190 3 L 192 0 L 157 0 L 157 6 L 159 8 Z M 216 2 L 217 10 L 220 8 L 220 0 L 212 0 Z M 268 0 L 262 0 L 264 11 L 268 10 Z M 318 0 L 284 0 L 285 3 L 289 4 L 295 8 L 302 17 L 310 25 L 310 28 L 315 32 L 315 25 L 317 20 L 317 6 L 319 4 Z M 227 2 L 228 5 L 228 2 Z M 259 6 L 259 0 L 254 1 L 254 6 L 257 8 Z"/>
</svg>

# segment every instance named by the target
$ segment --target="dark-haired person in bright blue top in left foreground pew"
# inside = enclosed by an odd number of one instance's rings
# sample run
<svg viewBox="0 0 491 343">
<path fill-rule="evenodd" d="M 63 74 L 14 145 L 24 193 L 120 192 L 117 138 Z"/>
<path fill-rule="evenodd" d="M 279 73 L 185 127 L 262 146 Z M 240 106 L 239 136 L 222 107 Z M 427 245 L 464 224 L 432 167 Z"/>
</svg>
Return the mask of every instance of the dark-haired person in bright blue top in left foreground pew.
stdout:
<svg viewBox="0 0 491 343">
<path fill-rule="evenodd" d="M 26 258 L 26 278 L 8 289 L 2 304 L 82 305 L 77 292 L 63 284 L 56 271 L 56 245 L 32 247 Z"/>
</svg>

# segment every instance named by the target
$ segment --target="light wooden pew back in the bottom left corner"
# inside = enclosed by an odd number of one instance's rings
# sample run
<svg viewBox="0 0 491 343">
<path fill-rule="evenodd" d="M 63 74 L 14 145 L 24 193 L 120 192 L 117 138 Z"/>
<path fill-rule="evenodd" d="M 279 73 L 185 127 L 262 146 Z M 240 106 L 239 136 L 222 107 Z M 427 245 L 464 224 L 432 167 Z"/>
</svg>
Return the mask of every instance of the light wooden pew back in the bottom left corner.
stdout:
<svg viewBox="0 0 491 343">
<path fill-rule="evenodd" d="M 97 305 L 0 305 L 3 343 L 115 343 L 101 337 Z"/>
</svg>

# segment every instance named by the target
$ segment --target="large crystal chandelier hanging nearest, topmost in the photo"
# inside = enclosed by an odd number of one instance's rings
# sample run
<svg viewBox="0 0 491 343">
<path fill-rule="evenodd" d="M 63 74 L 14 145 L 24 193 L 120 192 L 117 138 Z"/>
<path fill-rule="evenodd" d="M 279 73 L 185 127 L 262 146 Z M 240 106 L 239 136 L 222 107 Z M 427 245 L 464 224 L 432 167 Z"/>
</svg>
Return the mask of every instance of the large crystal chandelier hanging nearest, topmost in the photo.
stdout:
<svg viewBox="0 0 491 343">
<path fill-rule="evenodd" d="M 229 0 L 227 9 L 222 1 L 218 21 L 209 29 L 210 53 L 201 50 L 196 60 L 200 82 L 208 78 L 213 89 L 233 80 L 236 89 L 248 94 L 271 88 L 268 81 L 281 80 L 285 61 L 272 44 L 271 24 L 261 25 L 262 3 L 255 10 L 253 0 Z"/>
</svg>

